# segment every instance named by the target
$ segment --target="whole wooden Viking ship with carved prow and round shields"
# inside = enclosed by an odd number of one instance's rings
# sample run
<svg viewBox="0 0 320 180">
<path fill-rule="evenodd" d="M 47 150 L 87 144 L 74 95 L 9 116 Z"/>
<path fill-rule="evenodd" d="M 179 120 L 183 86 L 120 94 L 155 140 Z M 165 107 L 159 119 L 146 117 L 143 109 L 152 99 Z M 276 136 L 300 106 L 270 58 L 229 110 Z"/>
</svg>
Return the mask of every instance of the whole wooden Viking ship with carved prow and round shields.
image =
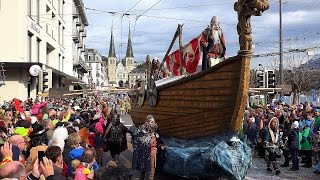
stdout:
<svg viewBox="0 0 320 180">
<path fill-rule="evenodd" d="M 240 50 L 236 56 L 206 70 L 155 81 L 147 57 L 147 86 L 141 85 L 132 98 L 130 115 L 134 124 L 143 124 L 146 116 L 152 114 L 163 136 L 189 139 L 225 131 L 239 132 L 253 55 L 251 16 L 261 16 L 268 8 L 268 0 L 236 2 Z M 177 32 L 175 38 L 177 34 L 181 38 L 181 26 Z M 172 43 L 165 57 L 171 47 Z"/>
</svg>

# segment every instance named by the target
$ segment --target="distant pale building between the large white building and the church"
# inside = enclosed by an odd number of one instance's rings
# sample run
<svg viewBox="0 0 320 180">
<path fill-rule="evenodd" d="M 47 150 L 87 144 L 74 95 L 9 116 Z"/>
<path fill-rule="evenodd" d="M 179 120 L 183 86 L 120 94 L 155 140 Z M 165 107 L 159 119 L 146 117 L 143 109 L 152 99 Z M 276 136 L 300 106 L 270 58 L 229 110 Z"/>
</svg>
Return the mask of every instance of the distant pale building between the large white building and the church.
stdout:
<svg viewBox="0 0 320 180">
<path fill-rule="evenodd" d="M 91 89 L 102 90 L 106 77 L 101 54 L 95 49 L 86 49 L 85 62 L 89 66 L 88 86 Z"/>
</svg>

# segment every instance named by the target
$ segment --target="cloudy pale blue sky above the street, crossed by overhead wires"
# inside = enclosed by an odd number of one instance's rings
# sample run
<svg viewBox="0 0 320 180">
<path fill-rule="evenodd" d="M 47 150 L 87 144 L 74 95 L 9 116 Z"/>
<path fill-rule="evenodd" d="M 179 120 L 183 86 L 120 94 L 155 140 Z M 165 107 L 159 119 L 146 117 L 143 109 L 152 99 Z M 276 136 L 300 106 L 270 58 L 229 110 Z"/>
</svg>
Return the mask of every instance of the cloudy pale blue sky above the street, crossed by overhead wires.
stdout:
<svg viewBox="0 0 320 180">
<path fill-rule="evenodd" d="M 226 38 L 227 56 L 239 50 L 235 0 L 84 0 L 89 26 L 86 47 L 107 56 L 113 27 L 117 57 L 124 58 L 130 32 L 135 60 L 146 56 L 163 59 L 178 24 L 183 24 L 182 41 L 198 36 L 217 16 Z M 123 16 L 123 14 L 126 14 Z M 310 59 L 320 53 L 320 1 L 282 0 L 284 63 Z M 270 9 L 253 17 L 254 54 L 279 52 L 279 0 L 270 0 Z M 178 49 L 176 41 L 174 50 Z M 122 48 L 121 48 L 122 47 Z M 306 50 L 293 53 L 296 50 Z M 293 52 L 292 52 L 293 51 Z M 286 61 L 288 60 L 288 61 Z M 277 67 L 279 55 L 253 58 L 251 66 Z M 290 63 L 289 63 L 290 62 Z M 299 61 L 300 62 L 300 61 Z"/>
</svg>

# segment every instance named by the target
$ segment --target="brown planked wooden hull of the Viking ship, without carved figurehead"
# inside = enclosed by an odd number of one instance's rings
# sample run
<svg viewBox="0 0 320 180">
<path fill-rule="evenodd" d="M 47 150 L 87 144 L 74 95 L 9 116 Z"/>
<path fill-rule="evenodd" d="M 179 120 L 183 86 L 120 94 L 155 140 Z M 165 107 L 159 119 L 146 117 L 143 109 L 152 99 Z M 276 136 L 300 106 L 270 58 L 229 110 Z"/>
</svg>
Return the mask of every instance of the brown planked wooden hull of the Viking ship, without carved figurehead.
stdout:
<svg viewBox="0 0 320 180">
<path fill-rule="evenodd" d="M 161 135 L 196 138 L 226 131 L 238 132 L 249 89 L 250 59 L 235 56 L 205 71 L 157 87 L 150 107 L 132 107 L 135 125 L 152 114 Z"/>
</svg>

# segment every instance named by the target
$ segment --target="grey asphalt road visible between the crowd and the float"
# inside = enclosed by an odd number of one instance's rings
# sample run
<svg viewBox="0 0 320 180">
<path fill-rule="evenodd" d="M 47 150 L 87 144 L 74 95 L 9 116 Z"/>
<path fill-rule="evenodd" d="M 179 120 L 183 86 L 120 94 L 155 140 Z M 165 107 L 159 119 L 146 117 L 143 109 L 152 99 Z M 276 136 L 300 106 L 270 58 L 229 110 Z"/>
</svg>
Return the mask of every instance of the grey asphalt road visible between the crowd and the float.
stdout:
<svg viewBox="0 0 320 180">
<path fill-rule="evenodd" d="M 133 125 L 130 115 L 122 115 L 121 120 L 123 124 L 127 127 Z M 124 164 L 127 168 L 131 169 L 131 159 L 132 159 L 132 145 L 130 143 L 130 136 L 128 139 L 128 150 L 123 152 L 120 157 L 120 163 Z M 110 160 L 110 154 L 105 154 L 104 163 Z M 282 161 L 283 162 L 283 161 Z M 278 164 L 281 164 L 281 159 L 279 159 Z M 303 168 L 300 166 L 299 171 L 290 171 L 290 167 L 283 168 L 281 167 L 281 174 L 279 176 L 275 175 L 275 173 L 268 172 L 266 170 L 266 163 L 262 158 L 253 158 L 252 167 L 248 170 L 248 174 L 245 177 L 245 180 L 320 180 L 320 175 L 316 175 L 312 173 L 315 169 L 313 168 Z M 187 178 L 178 177 L 174 175 L 170 175 L 167 173 L 159 173 L 157 172 L 155 175 L 155 180 L 187 180 Z"/>
</svg>

